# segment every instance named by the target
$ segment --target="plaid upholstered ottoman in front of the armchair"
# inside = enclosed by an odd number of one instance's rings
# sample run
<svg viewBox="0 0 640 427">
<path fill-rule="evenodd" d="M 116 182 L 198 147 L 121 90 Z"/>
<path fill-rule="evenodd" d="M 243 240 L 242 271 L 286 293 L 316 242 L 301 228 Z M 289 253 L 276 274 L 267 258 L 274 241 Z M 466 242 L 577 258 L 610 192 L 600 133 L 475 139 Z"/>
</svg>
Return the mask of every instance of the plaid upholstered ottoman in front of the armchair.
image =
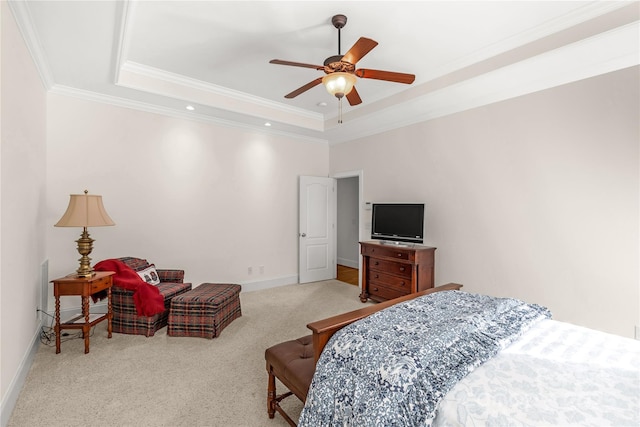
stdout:
<svg viewBox="0 0 640 427">
<path fill-rule="evenodd" d="M 169 330 L 172 337 L 215 338 L 242 316 L 240 285 L 203 283 L 171 300 Z"/>
</svg>

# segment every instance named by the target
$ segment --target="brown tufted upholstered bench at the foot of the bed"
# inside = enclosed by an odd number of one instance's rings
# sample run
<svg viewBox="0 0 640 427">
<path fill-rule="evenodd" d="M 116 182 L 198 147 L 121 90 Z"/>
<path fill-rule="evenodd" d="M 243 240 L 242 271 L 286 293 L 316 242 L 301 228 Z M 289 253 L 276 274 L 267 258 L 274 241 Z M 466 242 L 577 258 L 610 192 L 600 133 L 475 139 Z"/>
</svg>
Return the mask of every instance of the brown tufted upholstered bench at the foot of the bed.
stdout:
<svg viewBox="0 0 640 427">
<path fill-rule="evenodd" d="M 267 413 L 273 418 L 278 411 L 287 422 L 295 426 L 296 423 L 280 407 L 280 401 L 295 394 L 303 403 L 307 400 L 307 393 L 315 371 L 313 354 L 313 340 L 311 335 L 292 341 L 285 341 L 269 347 L 264 358 L 267 361 Z M 277 395 L 276 378 L 290 391 Z"/>
</svg>

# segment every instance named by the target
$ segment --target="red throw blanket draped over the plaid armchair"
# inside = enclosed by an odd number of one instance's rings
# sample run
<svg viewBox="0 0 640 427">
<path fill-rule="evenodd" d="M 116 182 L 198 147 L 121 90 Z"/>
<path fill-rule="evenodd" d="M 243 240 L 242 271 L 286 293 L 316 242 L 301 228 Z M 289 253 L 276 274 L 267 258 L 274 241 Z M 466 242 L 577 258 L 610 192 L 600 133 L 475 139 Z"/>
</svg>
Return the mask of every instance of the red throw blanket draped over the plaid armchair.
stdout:
<svg viewBox="0 0 640 427">
<path fill-rule="evenodd" d="M 113 284 L 133 291 L 133 303 L 138 316 L 153 316 L 164 311 L 164 297 L 157 287 L 148 284 L 119 259 L 105 259 L 93 266 L 96 271 L 115 271 Z"/>
</svg>

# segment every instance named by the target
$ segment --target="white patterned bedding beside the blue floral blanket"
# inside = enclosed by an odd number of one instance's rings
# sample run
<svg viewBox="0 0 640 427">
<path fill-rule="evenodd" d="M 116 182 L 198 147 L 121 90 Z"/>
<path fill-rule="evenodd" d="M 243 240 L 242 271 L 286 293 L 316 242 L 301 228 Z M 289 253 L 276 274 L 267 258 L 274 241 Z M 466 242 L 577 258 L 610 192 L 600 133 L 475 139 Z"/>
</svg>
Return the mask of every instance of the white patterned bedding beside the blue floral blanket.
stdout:
<svg viewBox="0 0 640 427">
<path fill-rule="evenodd" d="M 544 320 L 451 389 L 433 425 L 640 426 L 640 341 Z"/>
</svg>

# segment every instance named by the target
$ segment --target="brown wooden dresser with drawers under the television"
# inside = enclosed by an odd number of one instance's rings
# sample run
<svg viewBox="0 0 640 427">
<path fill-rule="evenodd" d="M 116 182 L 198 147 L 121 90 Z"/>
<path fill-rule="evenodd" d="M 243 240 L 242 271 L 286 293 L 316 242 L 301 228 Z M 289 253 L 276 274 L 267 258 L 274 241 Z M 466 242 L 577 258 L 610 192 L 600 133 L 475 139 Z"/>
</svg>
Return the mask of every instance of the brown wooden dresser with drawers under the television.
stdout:
<svg viewBox="0 0 640 427">
<path fill-rule="evenodd" d="M 436 248 L 411 243 L 360 242 L 360 301 L 371 298 L 381 302 L 433 288 L 435 251 Z"/>
</svg>

